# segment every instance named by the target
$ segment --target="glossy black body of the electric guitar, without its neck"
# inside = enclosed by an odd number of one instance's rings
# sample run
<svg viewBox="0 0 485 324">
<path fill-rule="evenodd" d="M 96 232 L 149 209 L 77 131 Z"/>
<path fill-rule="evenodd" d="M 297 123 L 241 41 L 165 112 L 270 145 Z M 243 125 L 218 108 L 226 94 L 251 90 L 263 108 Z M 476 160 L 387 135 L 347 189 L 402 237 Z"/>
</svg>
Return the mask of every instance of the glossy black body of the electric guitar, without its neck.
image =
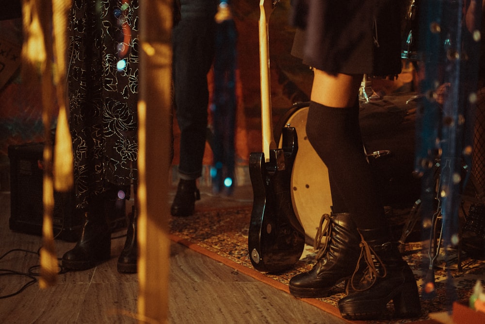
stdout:
<svg viewBox="0 0 485 324">
<path fill-rule="evenodd" d="M 249 174 L 253 187 L 253 209 L 248 250 L 251 263 L 261 272 L 278 273 L 299 260 L 305 246 L 305 230 L 291 203 L 291 170 L 298 151 L 296 131 L 283 129 L 282 148 L 251 153 Z"/>
</svg>

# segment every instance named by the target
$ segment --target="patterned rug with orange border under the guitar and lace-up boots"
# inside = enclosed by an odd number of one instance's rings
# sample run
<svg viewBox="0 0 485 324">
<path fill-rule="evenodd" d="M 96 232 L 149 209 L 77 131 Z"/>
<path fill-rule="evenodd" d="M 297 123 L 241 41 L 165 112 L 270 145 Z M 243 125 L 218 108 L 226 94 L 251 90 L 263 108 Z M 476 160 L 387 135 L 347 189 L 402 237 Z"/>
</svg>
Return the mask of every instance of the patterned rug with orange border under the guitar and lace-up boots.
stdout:
<svg viewBox="0 0 485 324">
<path fill-rule="evenodd" d="M 288 282 L 291 277 L 312 268 L 315 260 L 313 247 L 306 245 L 300 261 L 297 262 L 294 269 L 286 273 L 278 275 L 260 273 L 251 265 L 247 251 L 250 217 L 251 207 L 240 207 L 198 211 L 192 217 L 172 218 L 171 239 L 233 267 L 241 273 L 289 292 Z M 424 284 L 424 269 L 427 269 L 427 261 L 423 261 L 423 244 L 421 242 L 406 243 L 402 252 L 415 273 L 421 292 Z M 450 305 L 453 300 L 468 304 L 468 298 L 477 279 L 484 280 L 485 261 L 463 258 L 461 261 L 463 270 L 458 272 L 456 258 L 451 257 L 450 260 L 450 255 L 453 256 L 453 253 L 448 253 L 448 255 L 450 269 L 445 270 L 439 267 L 443 260 L 438 257 L 436 262 L 438 267 L 435 269 L 436 289 L 430 294 L 421 295 L 423 309 L 421 318 L 361 323 L 437 323 L 430 318 L 429 314 L 448 311 L 451 309 Z M 334 287 L 333 290 L 334 294 L 327 298 L 304 298 L 302 300 L 340 316 L 337 302 L 344 296 L 343 283 Z"/>
</svg>

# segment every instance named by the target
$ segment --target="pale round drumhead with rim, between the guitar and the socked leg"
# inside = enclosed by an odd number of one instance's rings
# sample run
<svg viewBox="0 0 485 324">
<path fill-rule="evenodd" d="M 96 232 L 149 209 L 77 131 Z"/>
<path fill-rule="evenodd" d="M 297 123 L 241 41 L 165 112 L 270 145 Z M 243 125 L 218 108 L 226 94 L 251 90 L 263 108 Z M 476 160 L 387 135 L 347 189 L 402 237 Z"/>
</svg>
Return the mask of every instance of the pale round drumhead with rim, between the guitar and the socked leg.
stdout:
<svg viewBox="0 0 485 324">
<path fill-rule="evenodd" d="M 294 104 L 275 127 L 275 139 L 281 147 L 281 130 L 291 126 L 298 136 L 298 151 L 291 171 L 291 200 L 300 224 L 305 229 L 306 243 L 313 245 L 323 214 L 330 214 L 332 196 L 328 171 L 307 138 L 309 102 Z"/>
</svg>

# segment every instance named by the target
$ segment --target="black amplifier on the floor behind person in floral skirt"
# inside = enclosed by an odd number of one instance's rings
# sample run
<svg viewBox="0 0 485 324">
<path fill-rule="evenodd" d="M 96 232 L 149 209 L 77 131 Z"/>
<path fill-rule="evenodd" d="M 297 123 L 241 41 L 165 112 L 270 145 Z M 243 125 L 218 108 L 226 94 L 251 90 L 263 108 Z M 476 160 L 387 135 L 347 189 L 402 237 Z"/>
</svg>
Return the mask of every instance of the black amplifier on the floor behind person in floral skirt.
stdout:
<svg viewBox="0 0 485 324">
<path fill-rule="evenodd" d="M 16 232 L 42 235 L 43 222 L 43 143 L 11 145 L 10 159 L 10 219 L 9 227 Z M 125 201 L 110 213 L 113 230 L 126 227 Z M 119 206 L 119 204 L 117 204 Z M 113 204 L 114 207 L 114 204 Z M 74 208 L 74 191 L 54 191 L 52 217 L 54 237 L 77 241 L 83 215 Z"/>
</svg>

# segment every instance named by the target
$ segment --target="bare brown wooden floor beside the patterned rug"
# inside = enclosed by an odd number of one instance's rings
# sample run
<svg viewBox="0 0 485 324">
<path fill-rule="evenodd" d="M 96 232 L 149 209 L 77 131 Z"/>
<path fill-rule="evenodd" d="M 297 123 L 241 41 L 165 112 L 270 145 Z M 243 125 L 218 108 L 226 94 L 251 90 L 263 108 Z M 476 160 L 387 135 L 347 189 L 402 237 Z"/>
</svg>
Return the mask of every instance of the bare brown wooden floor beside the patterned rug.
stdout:
<svg viewBox="0 0 485 324">
<path fill-rule="evenodd" d="M 232 197 L 216 197 L 201 188 L 204 205 L 251 205 L 250 186 L 237 187 Z M 173 189 L 169 199 L 173 198 Z M 9 229 L 10 193 L 0 192 L 0 269 L 27 273 L 39 264 L 41 238 Z M 113 234 L 113 238 L 123 235 Z M 0 299 L 0 323 L 136 323 L 136 274 L 116 271 L 124 238 L 112 240 L 112 258 L 94 269 L 59 275 L 58 284 L 40 290 L 33 284 L 15 296 Z M 56 240 L 61 257 L 74 243 Z M 347 323 L 286 292 L 172 243 L 170 254 L 170 323 Z M 38 271 L 38 269 L 36 269 Z M 4 273 L 4 271 L 0 271 Z M 17 274 L 0 276 L 0 295 L 19 290 L 31 279 Z"/>
</svg>

